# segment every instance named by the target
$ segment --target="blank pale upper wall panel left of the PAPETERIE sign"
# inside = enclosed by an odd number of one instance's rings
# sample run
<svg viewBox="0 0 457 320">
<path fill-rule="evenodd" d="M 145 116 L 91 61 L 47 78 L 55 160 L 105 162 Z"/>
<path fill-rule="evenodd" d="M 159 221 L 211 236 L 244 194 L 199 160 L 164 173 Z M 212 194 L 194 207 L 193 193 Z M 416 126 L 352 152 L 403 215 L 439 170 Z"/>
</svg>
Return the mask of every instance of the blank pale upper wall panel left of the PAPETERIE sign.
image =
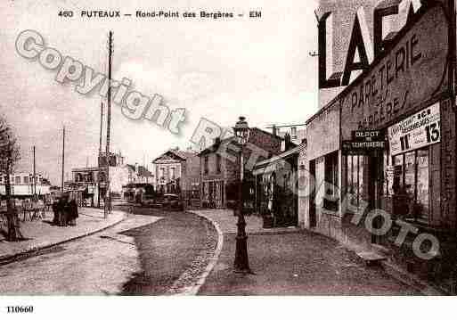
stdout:
<svg viewBox="0 0 457 320">
<path fill-rule="evenodd" d="M 333 103 L 306 122 L 309 160 L 339 150 L 339 103 Z"/>
</svg>

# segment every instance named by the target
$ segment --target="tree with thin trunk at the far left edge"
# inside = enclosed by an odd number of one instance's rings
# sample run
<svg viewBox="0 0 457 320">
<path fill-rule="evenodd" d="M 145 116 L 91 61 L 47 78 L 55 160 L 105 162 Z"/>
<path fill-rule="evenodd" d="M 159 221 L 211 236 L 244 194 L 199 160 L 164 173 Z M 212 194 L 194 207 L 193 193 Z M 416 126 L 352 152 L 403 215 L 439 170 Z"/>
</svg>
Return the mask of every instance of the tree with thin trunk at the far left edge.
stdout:
<svg viewBox="0 0 457 320">
<path fill-rule="evenodd" d="M 19 230 L 19 218 L 16 209 L 12 207 L 11 174 L 14 166 L 20 160 L 20 147 L 12 128 L 6 119 L 0 116 L 0 175 L 5 176 L 6 218 L 8 221 L 8 241 L 18 241 L 22 238 Z"/>
</svg>

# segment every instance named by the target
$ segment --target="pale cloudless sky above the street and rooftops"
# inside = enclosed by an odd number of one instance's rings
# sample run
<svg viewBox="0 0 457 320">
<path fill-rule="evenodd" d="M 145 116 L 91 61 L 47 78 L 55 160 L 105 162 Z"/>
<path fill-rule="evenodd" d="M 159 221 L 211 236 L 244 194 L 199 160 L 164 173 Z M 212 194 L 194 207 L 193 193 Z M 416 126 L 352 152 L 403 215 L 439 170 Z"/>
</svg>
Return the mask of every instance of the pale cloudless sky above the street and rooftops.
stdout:
<svg viewBox="0 0 457 320">
<path fill-rule="evenodd" d="M 184 108 L 180 135 L 145 119 L 126 119 L 111 110 L 111 152 L 128 163 L 150 163 L 171 147 L 191 145 L 201 117 L 233 127 L 238 117 L 249 126 L 304 123 L 317 111 L 315 1 L 174 0 L 97 1 L 18 0 L 0 3 L 0 114 L 20 142 L 18 170 L 31 171 L 36 145 L 37 171 L 61 183 L 61 128 L 66 127 L 65 173 L 96 166 L 99 148 L 98 94 L 75 91 L 76 83 L 60 84 L 55 71 L 20 56 L 16 38 L 36 30 L 45 45 L 69 55 L 96 72 L 106 72 L 107 37 L 114 35 L 113 78 L 129 78 L 133 88 L 160 94 L 167 106 Z M 244 13 L 227 20 L 135 18 L 136 10 Z M 73 11 L 72 18 L 60 17 Z M 80 17 L 82 10 L 120 10 L 132 17 Z M 249 11 L 262 17 L 249 19 Z M 104 148 L 104 147 L 103 147 Z"/>
</svg>

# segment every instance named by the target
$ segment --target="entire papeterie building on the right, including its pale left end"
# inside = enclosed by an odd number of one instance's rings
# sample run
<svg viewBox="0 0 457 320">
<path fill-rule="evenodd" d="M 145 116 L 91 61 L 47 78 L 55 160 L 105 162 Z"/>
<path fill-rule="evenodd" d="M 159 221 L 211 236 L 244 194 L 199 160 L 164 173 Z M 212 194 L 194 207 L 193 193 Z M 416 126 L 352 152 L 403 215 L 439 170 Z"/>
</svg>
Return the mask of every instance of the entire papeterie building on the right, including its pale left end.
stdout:
<svg viewBox="0 0 457 320">
<path fill-rule="evenodd" d="M 398 1 L 382 4 L 399 12 Z M 306 122 L 299 223 L 359 250 L 381 250 L 455 292 L 455 26 L 448 4 L 412 7 L 369 68 Z"/>
</svg>

